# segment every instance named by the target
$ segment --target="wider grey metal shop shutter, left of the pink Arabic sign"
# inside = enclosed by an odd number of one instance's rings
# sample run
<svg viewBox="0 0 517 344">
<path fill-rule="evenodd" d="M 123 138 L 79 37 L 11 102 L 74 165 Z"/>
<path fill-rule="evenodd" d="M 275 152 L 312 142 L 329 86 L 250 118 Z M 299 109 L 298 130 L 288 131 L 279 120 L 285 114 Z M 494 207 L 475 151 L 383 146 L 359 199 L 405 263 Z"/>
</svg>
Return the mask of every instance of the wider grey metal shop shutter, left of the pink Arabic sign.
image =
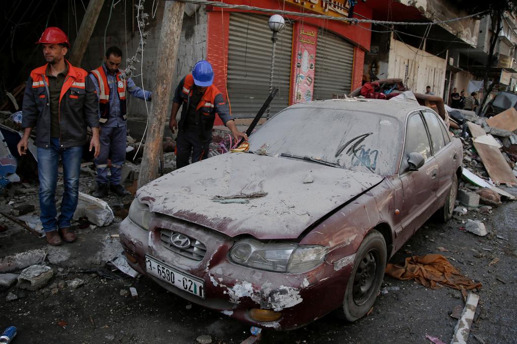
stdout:
<svg viewBox="0 0 517 344">
<path fill-rule="evenodd" d="M 244 13 L 230 14 L 227 90 L 236 118 L 255 117 L 269 94 L 271 71 L 271 30 L 269 17 Z M 271 115 L 289 105 L 293 27 L 278 34 L 273 86 L 278 93 L 271 102 Z"/>
</svg>

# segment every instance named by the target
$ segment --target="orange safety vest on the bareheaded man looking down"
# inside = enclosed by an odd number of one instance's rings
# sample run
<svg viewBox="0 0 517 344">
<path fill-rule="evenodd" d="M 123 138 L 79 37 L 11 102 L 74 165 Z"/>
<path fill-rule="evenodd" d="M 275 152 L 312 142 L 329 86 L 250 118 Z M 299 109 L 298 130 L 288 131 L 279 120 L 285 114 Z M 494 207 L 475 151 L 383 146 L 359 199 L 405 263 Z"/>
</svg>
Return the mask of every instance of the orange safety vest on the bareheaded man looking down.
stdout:
<svg viewBox="0 0 517 344">
<path fill-rule="evenodd" d="M 110 117 L 110 87 L 108 86 L 108 77 L 104 72 L 104 68 L 100 66 L 92 71 L 97 82 L 99 83 L 99 122 L 105 123 Z M 120 71 L 117 71 L 116 82 L 117 82 L 117 94 L 120 100 L 120 114 L 124 120 L 127 119 L 126 115 L 126 80 L 120 79 Z"/>
</svg>

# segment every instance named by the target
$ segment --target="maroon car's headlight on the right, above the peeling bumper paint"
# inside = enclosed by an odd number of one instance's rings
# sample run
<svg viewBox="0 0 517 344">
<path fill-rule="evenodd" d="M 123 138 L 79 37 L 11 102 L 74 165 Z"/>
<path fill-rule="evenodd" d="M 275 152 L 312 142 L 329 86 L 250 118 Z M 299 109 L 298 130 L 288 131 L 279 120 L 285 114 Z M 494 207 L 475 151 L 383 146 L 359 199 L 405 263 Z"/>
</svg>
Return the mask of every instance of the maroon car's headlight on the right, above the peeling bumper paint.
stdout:
<svg viewBox="0 0 517 344">
<path fill-rule="evenodd" d="M 233 262 L 245 267 L 275 272 L 301 273 L 320 265 L 327 249 L 298 243 L 265 244 L 253 239 L 240 240 L 230 250 Z"/>
</svg>

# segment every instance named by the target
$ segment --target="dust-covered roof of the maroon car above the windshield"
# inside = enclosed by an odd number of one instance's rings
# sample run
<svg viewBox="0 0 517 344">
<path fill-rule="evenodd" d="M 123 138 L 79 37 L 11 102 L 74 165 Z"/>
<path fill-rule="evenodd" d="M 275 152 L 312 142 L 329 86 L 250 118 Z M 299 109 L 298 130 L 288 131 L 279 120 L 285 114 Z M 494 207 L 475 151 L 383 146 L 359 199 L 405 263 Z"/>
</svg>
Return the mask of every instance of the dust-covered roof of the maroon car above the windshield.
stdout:
<svg viewBox="0 0 517 344">
<path fill-rule="evenodd" d="M 397 97 L 398 98 L 398 97 Z M 379 115 L 387 115 L 405 122 L 408 113 L 418 110 L 431 110 L 427 106 L 418 104 L 417 101 L 412 100 L 390 100 L 382 99 L 329 99 L 329 100 L 314 100 L 310 102 L 298 103 L 291 105 L 288 108 L 317 108 L 332 109 L 332 110 L 348 110 L 348 111 L 362 111 Z M 317 116 L 317 115 L 316 115 Z"/>
</svg>

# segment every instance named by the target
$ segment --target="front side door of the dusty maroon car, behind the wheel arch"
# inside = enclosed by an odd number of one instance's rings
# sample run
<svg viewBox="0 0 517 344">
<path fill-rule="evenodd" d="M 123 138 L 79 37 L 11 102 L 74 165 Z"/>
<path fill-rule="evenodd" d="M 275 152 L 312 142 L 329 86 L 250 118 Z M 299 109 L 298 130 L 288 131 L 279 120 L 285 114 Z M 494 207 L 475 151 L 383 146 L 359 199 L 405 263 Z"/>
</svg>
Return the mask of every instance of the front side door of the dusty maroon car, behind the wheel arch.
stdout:
<svg viewBox="0 0 517 344">
<path fill-rule="evenodd" d="M 408 169 L 407 158 L 412 152 L 418 152 L 425 158 L 423 166 L 417 171 Z M 402 232 L 399 233 L 401 240 L 397 241 L 402 246 L 433 214 L 438 188 L 438 161 L 432 155 L 429 133 L 420 112 L 410 114 L 406 122 L 399 178 L 402 182 L 403 201 Z"/>
</svg>

